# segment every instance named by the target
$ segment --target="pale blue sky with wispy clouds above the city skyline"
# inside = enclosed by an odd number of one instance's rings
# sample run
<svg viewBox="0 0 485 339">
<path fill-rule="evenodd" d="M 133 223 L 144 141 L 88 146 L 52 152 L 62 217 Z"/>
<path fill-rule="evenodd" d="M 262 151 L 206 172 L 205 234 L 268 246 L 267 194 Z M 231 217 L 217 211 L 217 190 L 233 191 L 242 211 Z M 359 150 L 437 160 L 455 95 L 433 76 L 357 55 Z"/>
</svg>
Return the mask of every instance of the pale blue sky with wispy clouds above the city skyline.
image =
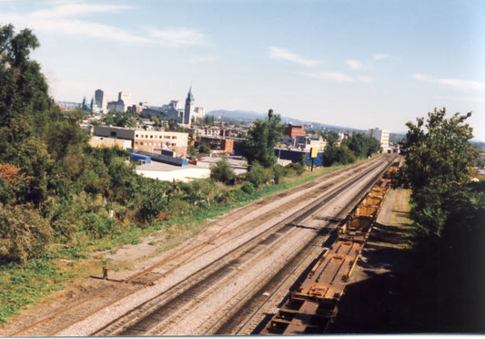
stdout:
<svg viewBox="0 0 485 339">
<path fill-rule="evenodd" d="M 57 100 L 192 86 L 207 110 L 391 132 L 445 107 L 485 140 L 484 1 L 0 1 L 8 23 L 38 37 Z"/>
</svg>

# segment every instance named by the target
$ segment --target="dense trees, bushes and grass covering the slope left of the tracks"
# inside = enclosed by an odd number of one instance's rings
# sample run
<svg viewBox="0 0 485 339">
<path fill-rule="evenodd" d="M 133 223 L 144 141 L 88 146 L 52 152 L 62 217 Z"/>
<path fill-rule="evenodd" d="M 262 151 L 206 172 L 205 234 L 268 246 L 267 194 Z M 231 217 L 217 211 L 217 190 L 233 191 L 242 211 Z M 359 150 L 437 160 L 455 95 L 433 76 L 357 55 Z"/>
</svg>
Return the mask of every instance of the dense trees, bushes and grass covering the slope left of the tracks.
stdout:
<svg viewBox="0 0 485 339">
<path fill-rule="evenodd" d="M 84 111 L 63 112 L 48 97 L 45 77 L 29 59 L 36 46 L 28 29 L 0 26 L 0 322 L 63 288 L 76 276 L 76 261 L 93 251 L 136 244 L 147 232 L 192 233 L 207 218 L 300 183 L 267 186 L 304 170 L 256 161 L 251 180 L 237 181 L 224 163 L 215 179 L 225 183 L 136 175 L 126 151 L 88 145 L 79 127 Z M 133 123 L 126 119 L 114 113 L 104 123 Z"/>
</svg>

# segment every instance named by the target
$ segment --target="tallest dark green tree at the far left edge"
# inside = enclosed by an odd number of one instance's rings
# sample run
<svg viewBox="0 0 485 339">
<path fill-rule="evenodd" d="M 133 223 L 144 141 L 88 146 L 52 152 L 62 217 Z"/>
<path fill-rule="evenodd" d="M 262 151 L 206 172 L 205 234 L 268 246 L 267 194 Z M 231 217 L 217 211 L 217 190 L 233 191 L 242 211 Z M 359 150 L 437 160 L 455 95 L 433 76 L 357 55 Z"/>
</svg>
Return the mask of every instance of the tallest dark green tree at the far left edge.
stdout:
<svg viewBox="0 0 485 339">
<path fill-rule="evenodd" d="M 30 30 L 15 34 L 12 25 L 0 26 L 0 163 L 32 177 L 25 195 L 35 204 L 45 200 L 49 156 L 40 134 L 52 107 L 40 66 L 28 57 L 37 46 Z"/>
</svg>

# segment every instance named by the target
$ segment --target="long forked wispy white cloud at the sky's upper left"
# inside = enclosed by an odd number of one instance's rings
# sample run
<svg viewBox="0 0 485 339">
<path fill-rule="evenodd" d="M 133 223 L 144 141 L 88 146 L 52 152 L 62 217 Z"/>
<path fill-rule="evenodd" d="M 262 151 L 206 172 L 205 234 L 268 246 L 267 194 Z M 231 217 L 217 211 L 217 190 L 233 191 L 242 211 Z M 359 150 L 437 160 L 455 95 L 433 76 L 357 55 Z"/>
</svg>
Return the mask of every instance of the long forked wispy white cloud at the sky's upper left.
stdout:
<svg viewBox="0 0 485 339">
<path fill-rule="evenodd" d="M 123 43 L 161 46 L 195 46 L 204 44 L 205 36 L 192 29 L 152 29 L 145 34 L 135 34 L 117 26 L 109 26 L 80 18 L 83 15 L 96 13 L 109 15 L 118 11 L 126 11 L 129 8 L 131 7 L 125 5 L 56 5 L 49 9 L 42 9 L 24 15 L 3 13 L 0 14 L 0 22 L 8 21 L 15 26 L 28 27 L 38 32 L 66 36 L 96 37 Z"/>
</svg>

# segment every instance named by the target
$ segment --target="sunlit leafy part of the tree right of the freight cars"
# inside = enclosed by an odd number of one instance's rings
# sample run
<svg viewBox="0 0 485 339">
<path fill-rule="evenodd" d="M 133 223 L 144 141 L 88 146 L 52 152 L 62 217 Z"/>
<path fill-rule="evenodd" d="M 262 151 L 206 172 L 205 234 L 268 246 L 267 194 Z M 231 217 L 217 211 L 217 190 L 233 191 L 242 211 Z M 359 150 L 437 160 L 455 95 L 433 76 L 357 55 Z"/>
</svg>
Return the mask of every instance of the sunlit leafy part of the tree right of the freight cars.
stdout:
<svg viewBox="0 0 485 339">
<path fill-rule="evenodd" d="M 450 197 L 466 190 L 469 167 L 479 156 L 479 149 L 469 141 L 472 128 L 465 123 L 471 112 L 445 116 L 445 108 L 435 108 L 428 113 L 426 124 L 424 118 L 417 118 L 416 124 L 409 121 L 406 139 L 400 144 L 405 162 L 397 179 L 412 190 L 415 205 L 411 217 L 424 238 L 440 237 L 450 215 L 457 213 L 460 204 Z"/>
</svg>

